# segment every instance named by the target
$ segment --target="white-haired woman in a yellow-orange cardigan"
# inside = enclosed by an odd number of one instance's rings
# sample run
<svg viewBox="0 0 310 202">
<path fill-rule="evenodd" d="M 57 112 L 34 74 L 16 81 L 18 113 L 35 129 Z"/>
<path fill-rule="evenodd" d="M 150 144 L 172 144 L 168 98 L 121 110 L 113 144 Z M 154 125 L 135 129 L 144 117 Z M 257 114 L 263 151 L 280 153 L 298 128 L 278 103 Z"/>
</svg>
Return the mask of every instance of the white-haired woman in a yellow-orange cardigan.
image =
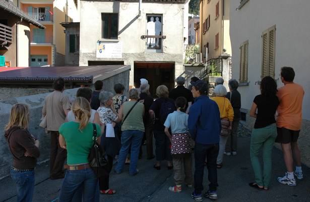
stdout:
<svg viewBox="0 0 310 202">
<path fill-rule="evenodd" d="M 227 90 L 225 86 L 219 84 L 215 86 L 214 95 L 210 99 L 214 100 L 218 105 L 221 117 L 222 130 L 220 134 L 220 148 L 217 156 L 217 168 L 222 168 L 223 155 L 225 151 L 225 145 L 228 136 L 230 135 L 232 121 L 233 121 L 233 109 L 226 96 Z"/>
</svg>

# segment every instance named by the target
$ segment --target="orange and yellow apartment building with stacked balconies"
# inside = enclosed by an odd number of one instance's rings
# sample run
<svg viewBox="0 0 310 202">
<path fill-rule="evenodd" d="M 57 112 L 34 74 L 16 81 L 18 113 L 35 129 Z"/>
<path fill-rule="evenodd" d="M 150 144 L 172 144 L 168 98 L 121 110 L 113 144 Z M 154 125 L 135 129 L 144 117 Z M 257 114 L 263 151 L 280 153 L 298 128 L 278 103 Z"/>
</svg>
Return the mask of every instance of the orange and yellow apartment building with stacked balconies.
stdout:
<svg viewBox="0 0 310 202">
<path fill-rule="evenodd" d="M 62 22 L 79 21 L 78 0 L 14 0 L 22 11 L 45 26 L 30 26 L 30 66 L 65 65 Z"/>
</svg>

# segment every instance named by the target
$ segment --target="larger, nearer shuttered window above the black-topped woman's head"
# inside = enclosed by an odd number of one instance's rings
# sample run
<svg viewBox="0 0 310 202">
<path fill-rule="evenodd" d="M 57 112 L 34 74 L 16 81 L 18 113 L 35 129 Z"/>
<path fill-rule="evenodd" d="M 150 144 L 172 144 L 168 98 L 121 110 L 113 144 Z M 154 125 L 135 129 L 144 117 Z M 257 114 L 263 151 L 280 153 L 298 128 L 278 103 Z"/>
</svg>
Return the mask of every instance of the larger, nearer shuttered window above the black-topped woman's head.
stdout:
<svg viewBox="0 0 310 202">
<path fill-rule="evenodd" d="M 272 26 L 262 35 L 262 75 L 275 77 L 276 26 Z"/>
</svg>

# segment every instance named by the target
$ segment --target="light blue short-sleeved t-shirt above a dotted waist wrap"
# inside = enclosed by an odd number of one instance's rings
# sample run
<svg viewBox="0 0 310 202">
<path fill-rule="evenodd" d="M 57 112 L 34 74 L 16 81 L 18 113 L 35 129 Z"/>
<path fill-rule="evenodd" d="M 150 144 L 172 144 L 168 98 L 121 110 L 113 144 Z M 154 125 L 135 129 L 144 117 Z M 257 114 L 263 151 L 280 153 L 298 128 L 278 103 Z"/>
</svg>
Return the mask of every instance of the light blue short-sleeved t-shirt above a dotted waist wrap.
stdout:
<svg viewBox="0 0 310 202">
<path fill-rule="evenodd" d="M 189 132 L 188 118 L 188 114 L 184 112 L 174 111 L 173 113 L 168 115 L 164 126 L 167 128 L 171 128 L 172 133 L 187 133 Z"/>
</svg>

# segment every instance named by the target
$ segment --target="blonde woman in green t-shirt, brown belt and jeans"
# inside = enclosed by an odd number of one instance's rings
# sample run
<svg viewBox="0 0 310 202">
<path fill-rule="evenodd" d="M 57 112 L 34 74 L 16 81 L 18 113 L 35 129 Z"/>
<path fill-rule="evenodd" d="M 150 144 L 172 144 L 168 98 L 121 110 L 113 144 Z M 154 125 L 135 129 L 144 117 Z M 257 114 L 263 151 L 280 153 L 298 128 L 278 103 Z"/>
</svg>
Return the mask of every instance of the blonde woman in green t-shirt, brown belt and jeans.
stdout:
<svg viewBox="0 0 310 202">
<path fill-rule="evenodd" d="M 63 123 L 59 128 L 59 144 L 67 149 L 68 171 L 60 189 L 59 201 L 72 201 L 83 185 L 83 201 L 99 201 L 98 178 L 89 166 L 88 155 L 93 145 L 93 125 L 88 123 L 90 105 L 84 97 L 77 97 L 72 105 L 75 121 Z M 96 124 L 97 135 L 101 135 Z M 100 137 L 97 139 L 100 143 Z"/>
</svg>

